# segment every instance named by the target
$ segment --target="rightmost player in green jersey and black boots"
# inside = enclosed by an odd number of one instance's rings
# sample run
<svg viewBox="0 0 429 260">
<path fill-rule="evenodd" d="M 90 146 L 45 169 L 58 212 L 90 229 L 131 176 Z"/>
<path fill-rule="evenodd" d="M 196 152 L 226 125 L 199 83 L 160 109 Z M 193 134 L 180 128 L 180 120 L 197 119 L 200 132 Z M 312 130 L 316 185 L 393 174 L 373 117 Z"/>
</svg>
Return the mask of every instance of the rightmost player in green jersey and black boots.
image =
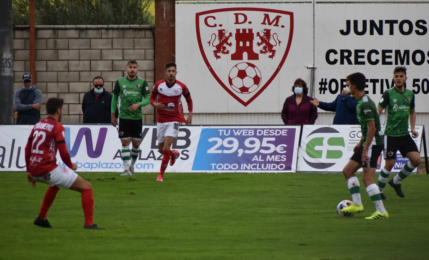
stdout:
<svg viewBox="0 0 429 260">
<path fill-rule="evenodd" d="M 393 80 L 395 87 L 384 91 L 377 107 L 378 114 L 381 114 L 383 109 L 387 110 L 387 122 L 384 130 L 384 142 L 386 144 L 384 159 L 386 159 L 386 164 L 378 176 L 378 187 L 383 200 L 387 200 L 384 196 L 384 187 L 386 187 L 387 178 L 389 178 L 390 171 L 395 164 L 396 151 L 399 150 L 402 157 L 410 159 L 408 163 L 404 164 L 401 171 L 389 180 L 389 185 L 395 189 L 396 194 L 401 198 L 405 197 L 402 192 L 401 181 L 407 178 L 421 162 L 417 145 L 408 133 L 408 118 L 410 118 L 411 134 L 414 138 L 419 136 L 419 133 L 414 130 L 416 125 L 414 93 L 405 89 L 407 69 L 396 67 L 393 70 Z"/>
</svg>

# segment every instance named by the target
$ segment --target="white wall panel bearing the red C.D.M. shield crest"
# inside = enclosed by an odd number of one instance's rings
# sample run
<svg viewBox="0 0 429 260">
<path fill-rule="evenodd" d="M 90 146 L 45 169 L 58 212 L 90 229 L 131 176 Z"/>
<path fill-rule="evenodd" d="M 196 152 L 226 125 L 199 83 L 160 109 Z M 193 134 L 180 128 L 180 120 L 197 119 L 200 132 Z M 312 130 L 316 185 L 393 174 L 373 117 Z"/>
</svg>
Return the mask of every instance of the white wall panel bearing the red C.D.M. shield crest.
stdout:
<svg viewBox="0 0 429 260">
<path fill-rule="evenodd" d="M 277 113 L 294 80 L 310 79 L 311 1 L 182 3 L 175 13 L 177 79 L 200 113 Z"/>
</svg>

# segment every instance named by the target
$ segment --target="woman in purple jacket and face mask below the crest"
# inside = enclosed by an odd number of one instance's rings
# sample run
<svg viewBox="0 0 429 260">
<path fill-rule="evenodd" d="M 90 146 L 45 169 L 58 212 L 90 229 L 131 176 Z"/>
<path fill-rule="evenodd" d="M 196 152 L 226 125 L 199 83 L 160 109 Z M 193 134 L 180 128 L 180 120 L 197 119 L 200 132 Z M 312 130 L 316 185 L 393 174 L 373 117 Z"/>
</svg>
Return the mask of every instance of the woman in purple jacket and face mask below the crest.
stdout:
<svg viewBox="0 0 429 260">
<path fill-rule="evenodd" d="M 317 107 L 310 103 L 307 84 L 296 79 L 292 86 L 294 94 L 286 99 L 281 110 L 284 124 L 314 124 L 317 118 Z"/>
</svg>

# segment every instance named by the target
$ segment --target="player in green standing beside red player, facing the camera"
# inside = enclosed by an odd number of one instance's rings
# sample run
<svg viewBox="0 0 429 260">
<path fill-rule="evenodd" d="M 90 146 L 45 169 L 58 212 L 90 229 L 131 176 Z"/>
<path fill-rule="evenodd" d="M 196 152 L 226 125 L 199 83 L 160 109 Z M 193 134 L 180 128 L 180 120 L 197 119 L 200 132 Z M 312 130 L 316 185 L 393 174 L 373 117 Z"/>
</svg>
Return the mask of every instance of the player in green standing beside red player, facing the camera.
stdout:
<svg viewBox="0 0 429 260">
<path fill-rule="evenodd" d="M 122 165 L 124 166 L 124 173 L 121 176 L 134 174 L 134 163 L 139 157 L 140 139 L 142 138 L 142 106 L 150 103 L 148 82 L 137 76 L 139 71 L 137 61 L 129 60 L 125 70 L 128 75 L 118 79 L 113 88 L 110 110 L 112 125 L 116 127 L 115 109 L 118 105 L 118 97 L 121 97 L 118 127 L 118 135 L 122 143 Z M 131 151 L 130 142 L 133 146 Z M 131 163 L 129 163 L 130 157 Z"/>
</svg>

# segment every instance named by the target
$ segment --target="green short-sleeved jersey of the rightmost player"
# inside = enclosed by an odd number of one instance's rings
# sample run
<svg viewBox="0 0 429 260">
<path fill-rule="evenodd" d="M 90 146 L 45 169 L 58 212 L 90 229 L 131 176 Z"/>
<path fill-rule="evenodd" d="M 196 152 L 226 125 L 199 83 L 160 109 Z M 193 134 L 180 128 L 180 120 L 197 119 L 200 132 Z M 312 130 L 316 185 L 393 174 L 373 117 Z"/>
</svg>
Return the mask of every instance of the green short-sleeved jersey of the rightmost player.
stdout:
<svg viewBox="0 0 429 260">
<path fill-rule="evenodd" d="M 384 91 L 378 106 L 387 109 L 387 123 L 384 134 L 387 136 L 408 135 L 408 118 L 414 109 L 414 93 L 409 89 L 399 92 L 396 88 Z"/>
</svg>

